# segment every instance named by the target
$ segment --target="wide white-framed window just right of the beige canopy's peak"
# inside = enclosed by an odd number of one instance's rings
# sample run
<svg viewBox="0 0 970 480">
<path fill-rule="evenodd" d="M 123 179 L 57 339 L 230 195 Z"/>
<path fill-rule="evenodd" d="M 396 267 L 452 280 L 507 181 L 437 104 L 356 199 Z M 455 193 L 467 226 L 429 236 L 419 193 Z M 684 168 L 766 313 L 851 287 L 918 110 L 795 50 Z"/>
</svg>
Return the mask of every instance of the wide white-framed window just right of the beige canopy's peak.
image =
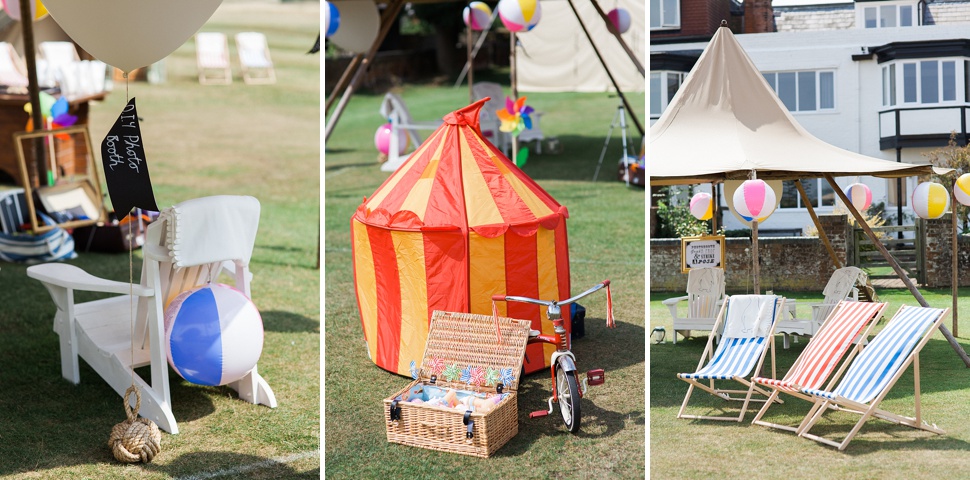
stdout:
<svg viewBox="0 0 970 480">
<path fill-rule="evenodd" d="M 762 73 L 789 112 L 835 110 L 835 71 Z"/>
</svg>

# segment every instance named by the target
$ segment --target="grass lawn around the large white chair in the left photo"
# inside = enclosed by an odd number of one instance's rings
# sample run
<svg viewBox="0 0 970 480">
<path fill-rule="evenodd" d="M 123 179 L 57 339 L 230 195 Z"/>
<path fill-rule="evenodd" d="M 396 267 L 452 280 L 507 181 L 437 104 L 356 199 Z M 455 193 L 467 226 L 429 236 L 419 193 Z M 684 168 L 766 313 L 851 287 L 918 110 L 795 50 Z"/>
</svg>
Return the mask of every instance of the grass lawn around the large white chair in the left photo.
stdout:
<svg viewBox="0 0 970 480">
<path fill-rule="evenodd" d="M 54 305 L 25 267 L 0 264 L 0 477 L 172 478 L 233 472 L 238 478 L 317 478 L 320 472 L 320 57 L 317 2 L 230 1 L 203 27 L 264 32 L 278 82 L 199 85 L 192 40 L 167 60 L 168 81 L 132 83 L 160 207 L 212 194 L 262 204 L 250 268 L 265 342 L 259 372 L 276 394 L 269 409 L 228 387 L 189 384 L 170 371 L 181 432 L 162 434 L 149 465 L 123 466 L 107 447 L 125 419 L 121 397 L 81 362 L 81 383 L 60 375 Z M 124 85 L 92 106 L 100 144 L 126 102 Z M 135 253 L 135 278 L 141 264 Z M 81 253 L 70 263 L 127 280 L 127 254 Z M 237 470 L 233 470 L 237 469 Z M 242 470 L 238 470 L 242 469 Z M 241 472 L 245 472 L 244 474 Z"/>
</svg>

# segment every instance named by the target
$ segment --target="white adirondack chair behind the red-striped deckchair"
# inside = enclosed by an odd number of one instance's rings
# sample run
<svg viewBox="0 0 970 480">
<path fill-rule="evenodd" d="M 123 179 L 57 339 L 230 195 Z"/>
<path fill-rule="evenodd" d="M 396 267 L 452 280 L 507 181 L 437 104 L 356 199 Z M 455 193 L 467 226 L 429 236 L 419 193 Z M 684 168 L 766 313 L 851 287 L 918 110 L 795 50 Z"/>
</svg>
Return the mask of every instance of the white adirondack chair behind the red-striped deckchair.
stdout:
<svg viewBox="0 0 970 480">
<path fill-rule="evenodd" d="M 828 318 L 832 310 L 843 300 L 859 301 L 859 287 L 865 287 L 869 275 L 858 267 L 842 267 L 832 272 L 828 283 L 822 289 L 825 298 L 822 303 L 811 303 L 811 315 L 804 318 L 787 319 L 782 318 L 775 327 L 775 333 L 784 334 L 783 345 L 788 348 L 789 336 L 811 336 L 821 328 L 822 323 Z M 798 306 L 806 304 L 796 303 Z M 802 310 L 804 312 L 804 310 Z"/>
</svg>

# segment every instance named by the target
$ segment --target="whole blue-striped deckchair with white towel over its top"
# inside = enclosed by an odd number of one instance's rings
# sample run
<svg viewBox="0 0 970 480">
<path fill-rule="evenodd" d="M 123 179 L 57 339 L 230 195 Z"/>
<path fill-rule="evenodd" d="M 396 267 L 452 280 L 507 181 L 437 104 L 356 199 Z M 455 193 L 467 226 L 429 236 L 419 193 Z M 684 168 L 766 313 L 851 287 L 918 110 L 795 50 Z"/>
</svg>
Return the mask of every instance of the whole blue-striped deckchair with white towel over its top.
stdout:
<svg viewBox="0 0 970 480">
<path fill-rule="evenodd" d="M 687 395 L 677 413 L 677 418 L 693 418 L 699 420 L 732 420 L 740 422 L 750 402 L 764 402 L 764 399 L 752 399 L 755 392 L 765 397 L 769 393 L 746 380 L 749 375 L 758 375 L 765 361 L 765 354 L 771 348 L 771 376 L 775 376 L 775 339 L 774 330 L 778 317 L 784 310 L 785 298 L 775 295 L 734 295 L 725 297 L 724 306 L 714 322 L 713 331 L 717 331 L 724 323 L 723 338 L 714 351 L 714 337 L 707 339 L 707 347 L 701 354 L 694 373 L 679 373 L 677 378 L 687 382 Z M 705 361 L 707 364 L 705 365 Z M 745 390 L 726 390 L 715 388 L 716 380 L 733 380 L 746 387 Z M 709 382 L 707 384 L 701 381 Z M 711 395 L 724 400 L 743 400 L 741 412 L 736 417 L 716 417 L 702 415 L 686 415 L 687 403 L 697 387 Z M 745 394 L 744 397 L 733 397 L 732 393 Z M 779 403 L 780 400 L 775 400 Z"/>
</svg>

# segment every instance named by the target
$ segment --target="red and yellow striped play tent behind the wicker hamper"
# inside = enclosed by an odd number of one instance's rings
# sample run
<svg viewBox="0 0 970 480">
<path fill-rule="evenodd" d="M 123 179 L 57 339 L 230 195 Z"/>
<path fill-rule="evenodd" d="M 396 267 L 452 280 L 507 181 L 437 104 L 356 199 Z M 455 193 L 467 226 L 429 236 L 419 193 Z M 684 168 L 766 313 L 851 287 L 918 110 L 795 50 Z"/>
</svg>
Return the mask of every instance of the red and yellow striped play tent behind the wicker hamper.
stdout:
<svg viewBox="0 0 970 480">
<path fill-rule="evenodd" d="M 482 137 L 483 103 L 445 116 L 350 221 L 364 337 L 385 370 L 420 367 L 434 310 L 490 315 L 495 294 L 569 297 L 566 207 Z M 544 307 L 498 310 L 552 333 Z M 526 371 L 553 351 L 530 345 Z"/>
</svg>

